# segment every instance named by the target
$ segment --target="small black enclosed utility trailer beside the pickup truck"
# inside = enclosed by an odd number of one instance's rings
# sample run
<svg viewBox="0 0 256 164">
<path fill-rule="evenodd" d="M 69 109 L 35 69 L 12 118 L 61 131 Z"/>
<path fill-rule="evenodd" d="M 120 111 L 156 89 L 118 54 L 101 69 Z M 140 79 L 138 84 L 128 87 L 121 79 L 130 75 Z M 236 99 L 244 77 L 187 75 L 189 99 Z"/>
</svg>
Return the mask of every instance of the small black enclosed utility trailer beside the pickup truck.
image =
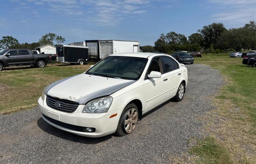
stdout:
<svg viewBox="0 0 256 164">
<path fill-rule="evenodd" d="M 59 63 L 88 63 L 88 47 L 75 45 L 57 45 L 57 62 Z"/>
</svg>

